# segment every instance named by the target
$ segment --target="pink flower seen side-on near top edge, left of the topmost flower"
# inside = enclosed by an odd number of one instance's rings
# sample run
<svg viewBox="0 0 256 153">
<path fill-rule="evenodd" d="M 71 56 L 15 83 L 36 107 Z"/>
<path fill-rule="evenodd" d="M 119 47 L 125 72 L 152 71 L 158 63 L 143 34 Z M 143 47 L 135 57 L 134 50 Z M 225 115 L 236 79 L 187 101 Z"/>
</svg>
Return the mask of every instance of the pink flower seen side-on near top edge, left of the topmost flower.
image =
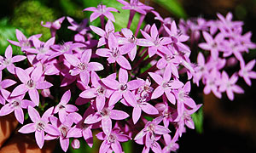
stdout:
<svg viewBox="0 0 256 153">
<path fill-rule="evenodd" d="M 106 5 L 99 4 L 97 8 L 90 7 L 90 8 L 85 8 L 84 11 L 93 11 L 92 14 L 90 14 L 90 22 L 93 20 L 96 20 L 96 18 L 100 16 L 106 16 L 108 20 L 115 21 L 113 14 L 111 12 L 119 12 L 116 8 L 107 8 Z M 111 11 L 111 12 L 110 12 Z"/>
</svg>

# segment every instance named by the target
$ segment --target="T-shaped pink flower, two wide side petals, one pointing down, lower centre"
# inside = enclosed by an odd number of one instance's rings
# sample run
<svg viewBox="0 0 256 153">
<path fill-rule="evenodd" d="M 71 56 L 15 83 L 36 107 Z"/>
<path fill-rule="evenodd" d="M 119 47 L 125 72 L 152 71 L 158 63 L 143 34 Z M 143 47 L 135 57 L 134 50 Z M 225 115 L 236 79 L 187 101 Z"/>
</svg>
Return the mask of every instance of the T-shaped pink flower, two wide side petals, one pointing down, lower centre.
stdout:
<svg viewBox="0 0 256 153">
<path fill-rule="evenodd" d="M 113 106 L 105 107 L 102 111 L 97 111 L 96 113 L 90 114 L 84 120 L 86 124 L 93 124 L 102 121 L 102 130 L 105 134 L 110 134 L 112 130 L 113 120 L 124 120 L 129 115 L 125 111 L 113 110 Z"/>
</svg>

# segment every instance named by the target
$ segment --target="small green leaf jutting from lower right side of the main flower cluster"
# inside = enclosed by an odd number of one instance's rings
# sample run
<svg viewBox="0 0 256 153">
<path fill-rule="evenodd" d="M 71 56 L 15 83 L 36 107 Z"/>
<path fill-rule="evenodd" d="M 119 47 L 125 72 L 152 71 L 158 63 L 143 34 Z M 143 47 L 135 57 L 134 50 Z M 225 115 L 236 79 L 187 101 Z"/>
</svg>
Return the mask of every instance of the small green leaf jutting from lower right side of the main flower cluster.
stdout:
<svg viewBox="0 0 256 153">
<path fill-rule="evenodd" d="M 194 114 L 191 115 L 192 119 L 195 123 L 195 131 L 197 133 L 202 133 L 203 132 L 203 108 L 201 107 L 199 111 L 195 112 Z"/>
</svg>

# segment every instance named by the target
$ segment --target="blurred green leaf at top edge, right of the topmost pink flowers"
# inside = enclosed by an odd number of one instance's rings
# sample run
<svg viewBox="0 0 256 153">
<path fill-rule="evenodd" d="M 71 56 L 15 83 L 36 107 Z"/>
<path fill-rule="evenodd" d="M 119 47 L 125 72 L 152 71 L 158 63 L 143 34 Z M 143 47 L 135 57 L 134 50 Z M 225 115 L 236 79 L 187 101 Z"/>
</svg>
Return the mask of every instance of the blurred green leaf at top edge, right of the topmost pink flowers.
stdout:
<svg viewBox="0 0 256 153">
<path fill-rule="evenodd" d="M 182 5 L 177 0 L 154 0 L 161 7 L 166 8 L 172 14 L 176 15 L 178 18 L 187 18 L 187 14 L 182 7 Z"/>
</svg>

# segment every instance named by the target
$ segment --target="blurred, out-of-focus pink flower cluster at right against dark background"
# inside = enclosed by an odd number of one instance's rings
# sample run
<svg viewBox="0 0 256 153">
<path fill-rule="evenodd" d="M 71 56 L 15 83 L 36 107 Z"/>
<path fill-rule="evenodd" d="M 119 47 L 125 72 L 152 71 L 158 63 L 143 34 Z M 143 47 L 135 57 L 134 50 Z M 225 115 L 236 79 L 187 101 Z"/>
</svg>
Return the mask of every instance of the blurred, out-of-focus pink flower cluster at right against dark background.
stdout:
<svg viewBox="0 0 256 153">
<path fill-rule="evenodd" d="M 251 42 L 251 32 L 242 34 L 241 21 L 232 21 L 232 14 L 226 17 L 218 15 L 218 20 L 193 19 L 181 21 L 180 26 L 184 33 L 194 37 L 193 42 L 206 52 L 200 52 L 197 56 L 197 64 L 194 65 L 195 73 L 193 82 L 199 85 L 204 84 L 204 94 L 211 91 L 219 99 L 222 93 L 226 93 L 230 100 L 235 98 L 234 93 L 243 94 L 241 87 L 236 85 L 239 77 L 242 77 L 247 85 L 251 86 L 251 79 L 256 78 L 253 71 L 255 59 L 247 63 L 242 54 L 248 53 L 249 49 L 256 48 L 256 44 Z M 200 42 L 200 37 L 205 42 Z M 210 52 L 210 54 L 207 53 Z M 225 71 L 227 68 L 240 63 L 240 70 L 235 71 L 231 77 Z"/>
</svg>

